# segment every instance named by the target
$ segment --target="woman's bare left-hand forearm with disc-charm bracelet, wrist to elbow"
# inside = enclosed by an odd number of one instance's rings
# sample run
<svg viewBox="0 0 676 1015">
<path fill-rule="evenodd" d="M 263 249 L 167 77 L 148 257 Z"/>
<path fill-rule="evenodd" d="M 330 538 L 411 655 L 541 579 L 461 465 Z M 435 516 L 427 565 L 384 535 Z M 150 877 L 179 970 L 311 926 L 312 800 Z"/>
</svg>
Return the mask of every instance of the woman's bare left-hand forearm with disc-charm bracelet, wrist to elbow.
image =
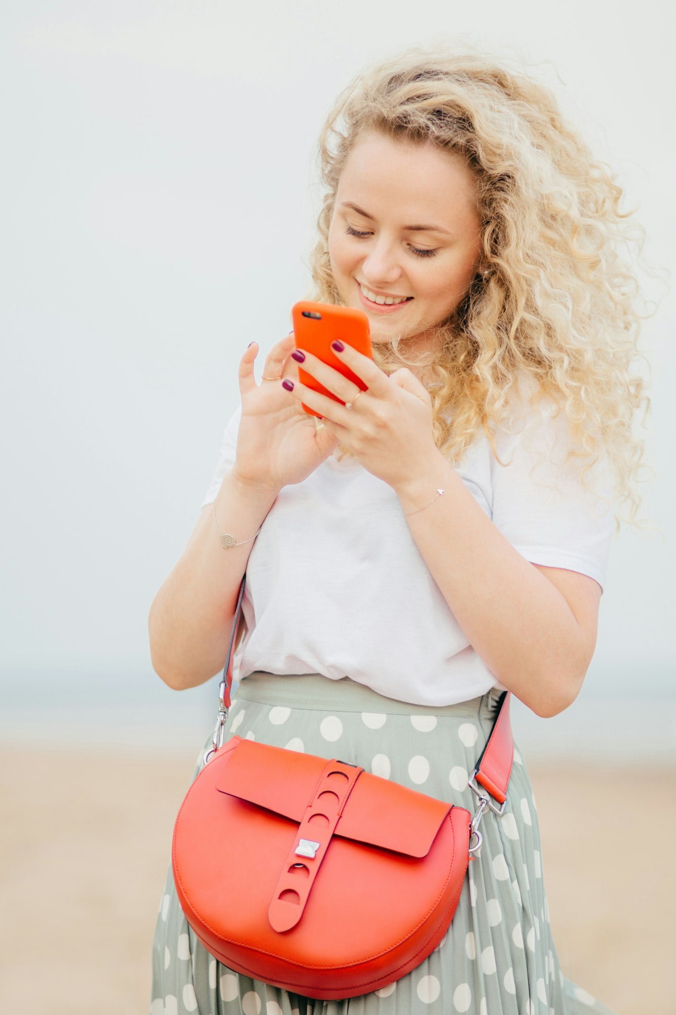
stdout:
<svg viewBox="0 0 676 1015">
<path fill-rule="evenodd" d="M 216 498 L 221 532 L 248 540 L 258 532 L 277 492 L 243 483 L 229 470 Z M 205 504 L 188 545 L 150 607 L 152 668 L 175 690 L 196 687 L 222 670 L 234 608 L 255 540 L 224 550 Z"/>
</svg>

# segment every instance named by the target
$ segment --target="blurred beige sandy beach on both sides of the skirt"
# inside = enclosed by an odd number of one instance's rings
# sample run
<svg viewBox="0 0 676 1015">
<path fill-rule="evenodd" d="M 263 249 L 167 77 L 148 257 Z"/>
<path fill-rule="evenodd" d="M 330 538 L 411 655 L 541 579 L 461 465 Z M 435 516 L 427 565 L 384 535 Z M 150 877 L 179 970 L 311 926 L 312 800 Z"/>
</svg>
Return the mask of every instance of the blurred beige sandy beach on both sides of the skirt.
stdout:
<svg viewBox="0 0 676 1015">
<path fill-rule="evenodd" d="M 0 751 L 0 1011 L 146 1015 L 196 754 Z M 675 1012 L 676 767 L 526 762 L 564 972 L 616 1015 Z"/>
</svg>

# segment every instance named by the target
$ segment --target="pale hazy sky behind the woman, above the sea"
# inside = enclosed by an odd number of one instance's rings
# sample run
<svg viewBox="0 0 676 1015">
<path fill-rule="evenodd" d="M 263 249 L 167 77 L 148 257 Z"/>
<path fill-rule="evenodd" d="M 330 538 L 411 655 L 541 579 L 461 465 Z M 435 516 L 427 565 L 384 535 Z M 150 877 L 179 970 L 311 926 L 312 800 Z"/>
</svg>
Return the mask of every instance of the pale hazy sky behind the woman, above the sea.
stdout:
<svg viewBox="0 0 676 1015">
<path fill-rule="evenodd" d="M 640 16 L 637 17 L 637 13 Z M 236 364 L 290 329 L 338 92 L 405 43 L 523 56 L 638 204 L 673 269 L 674 61 L 657 3 L 3 5 L 5 678 L 158 680 L 147 614 L 196 522 Z M 671 686 L 673 294 L 653 366 L 645 514 L 611 549 L 588 682 Z M 38 687 L 39 685 L 32 684 Z"/>
</svg>

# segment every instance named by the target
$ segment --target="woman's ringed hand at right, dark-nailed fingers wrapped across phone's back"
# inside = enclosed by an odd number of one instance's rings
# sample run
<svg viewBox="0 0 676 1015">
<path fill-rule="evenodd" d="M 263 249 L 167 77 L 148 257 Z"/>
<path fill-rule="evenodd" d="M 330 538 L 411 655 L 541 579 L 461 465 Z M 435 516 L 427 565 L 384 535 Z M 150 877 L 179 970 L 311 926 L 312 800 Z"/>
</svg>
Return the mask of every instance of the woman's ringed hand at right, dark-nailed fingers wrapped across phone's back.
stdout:
<svg viewBox="0 0 676 1015">
<path fill-rule="evenodd" d="M 342 345 L 342 351 L 333 349 L 336 357 L 363 382 L 365 391 L 306 349 L 300 350 L 306 357 L 301 366 L 341 402 L 351 402 L 351 409 L 299 381 L 289 397 L 297 399 L 301 412 L 300 402 L 319 412 L 327 428 L 365 469 L 397 489 L 422 461 L 438 454 L 430 395 L 408 367 L 388 377 L 369 356 L 346 342 Z"/>
</svg>

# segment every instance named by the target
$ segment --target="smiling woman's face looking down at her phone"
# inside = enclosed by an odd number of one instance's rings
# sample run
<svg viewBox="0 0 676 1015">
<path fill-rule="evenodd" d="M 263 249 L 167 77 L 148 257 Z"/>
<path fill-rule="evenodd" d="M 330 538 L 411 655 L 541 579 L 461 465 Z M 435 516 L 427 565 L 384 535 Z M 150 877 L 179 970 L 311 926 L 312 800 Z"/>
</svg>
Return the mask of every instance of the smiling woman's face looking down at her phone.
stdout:
<svg viewBox="0 0 676 1015">
<path fill-rule="evenodd" d="M 460 156 L 376 131 L 357 140 L 340 176 L 329 259 L 345 306 L 367 314 L 374 342 L 399 334 L 407 349 L 433 347 L 433 329 L 462 300 L 480 254 L 475 180 Z M 379 306 L 364 289 L 410 298 Z"/>
</svg>

